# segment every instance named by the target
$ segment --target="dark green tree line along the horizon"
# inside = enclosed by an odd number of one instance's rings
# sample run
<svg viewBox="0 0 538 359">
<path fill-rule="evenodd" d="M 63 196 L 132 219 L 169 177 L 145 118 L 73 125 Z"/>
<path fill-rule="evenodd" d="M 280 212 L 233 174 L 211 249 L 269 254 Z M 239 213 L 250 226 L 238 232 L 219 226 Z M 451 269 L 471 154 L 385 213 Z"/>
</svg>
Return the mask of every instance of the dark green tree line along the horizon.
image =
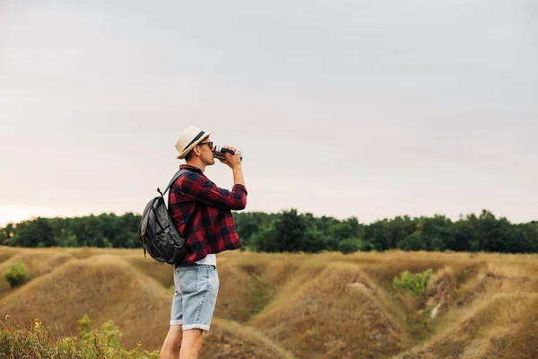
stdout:
<svg viewBox="0 0 538 359">
<path fill-rule="evenodd" d="M 357 217 L 234 212 L 244 250 L 309 252 L 369 250 L 538 252 L 538 222 L 510 223 L 490 211 L 460 216 L 397 216 L 360 223 Z M 74 218 L 38 217 L 0 228 L 0 243 L 15 247 L 141 248 L 141 215 L 101 214 Z"/>
</svg>

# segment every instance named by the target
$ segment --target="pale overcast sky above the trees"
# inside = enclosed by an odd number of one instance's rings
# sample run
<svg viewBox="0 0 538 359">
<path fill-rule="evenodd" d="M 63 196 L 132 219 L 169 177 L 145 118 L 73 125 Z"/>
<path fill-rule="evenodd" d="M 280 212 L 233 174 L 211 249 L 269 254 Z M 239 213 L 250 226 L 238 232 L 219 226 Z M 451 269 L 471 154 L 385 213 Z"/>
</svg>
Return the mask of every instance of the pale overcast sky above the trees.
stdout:
<svg viewBox="0 0 538 359">
<path fill-rule="evenodd" d="M 190 125 L 248 211 L 537 220 L 537 64 L 532 0 L 0 0 L 0 225 L 142 213 Z"/>
</svg>

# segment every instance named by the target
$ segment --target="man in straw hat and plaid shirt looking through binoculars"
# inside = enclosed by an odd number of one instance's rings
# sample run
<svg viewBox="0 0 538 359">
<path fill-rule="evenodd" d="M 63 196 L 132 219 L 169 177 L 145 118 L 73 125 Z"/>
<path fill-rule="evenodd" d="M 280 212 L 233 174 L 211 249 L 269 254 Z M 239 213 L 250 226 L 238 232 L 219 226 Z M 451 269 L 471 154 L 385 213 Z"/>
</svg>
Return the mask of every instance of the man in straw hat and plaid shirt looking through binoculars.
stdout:
<svg viewBox="0 0 538 359">
<path fill-rule="evenodd" d="M 169 212 L 178 232 L 187 238 L 187 254 L 174 268 L 174 293 L 170 328 L 161 348 L 161 358 L 197 358 L 204 331 L 209 330 L 219 289 L 216 253 L 241 247 L 231 210 L 247 206 L 247 188 L 238 151 L 226 153 L 233 173 L 229 191 L 217 187 L 204 175 L 214 164 L 210 135 L 198 127 L 187 127 L 179 136 L 180 168 L 187 169 L 169 191 Z"/>
</svg>

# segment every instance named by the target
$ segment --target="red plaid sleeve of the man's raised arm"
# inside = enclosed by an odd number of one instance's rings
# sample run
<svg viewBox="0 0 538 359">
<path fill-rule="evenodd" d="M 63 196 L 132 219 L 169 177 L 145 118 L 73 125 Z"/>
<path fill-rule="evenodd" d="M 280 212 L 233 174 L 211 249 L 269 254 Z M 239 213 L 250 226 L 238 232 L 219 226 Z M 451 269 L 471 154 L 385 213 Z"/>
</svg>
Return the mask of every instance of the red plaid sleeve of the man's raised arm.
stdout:
<svg viewBox="0 0 538 359">
<path fill-rule="evenodd" d="M 181 187 L 185 196 L 207 206 L 231 210 L 241 210 L 247 206 L 247 188 L 242 184 L 236 184 L 228 190 L 218 187 L 205 176 L 190 172 Z"/>
</svg>

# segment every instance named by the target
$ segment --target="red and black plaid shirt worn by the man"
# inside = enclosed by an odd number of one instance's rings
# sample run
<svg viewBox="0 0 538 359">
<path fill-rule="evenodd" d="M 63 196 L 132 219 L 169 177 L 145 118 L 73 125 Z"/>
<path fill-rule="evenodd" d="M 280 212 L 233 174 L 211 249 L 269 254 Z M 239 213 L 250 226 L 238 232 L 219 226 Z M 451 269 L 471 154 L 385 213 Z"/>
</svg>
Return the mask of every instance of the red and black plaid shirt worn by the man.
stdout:
<svg viewBox="0 0 538 359">
<path fill-rule="evenodd" d="M 183 263 L 194 263 L 210 253 L 239 249 L 241 242 L 231 210 L 247 206 L 247 188 L 236 184 L 229 191 L 217 187 L 194 166 L 182 164 L 179 168 L 189 171 L 169 190 L 169 213 L 179 234 L 187 238 Z"/>
</svg>

